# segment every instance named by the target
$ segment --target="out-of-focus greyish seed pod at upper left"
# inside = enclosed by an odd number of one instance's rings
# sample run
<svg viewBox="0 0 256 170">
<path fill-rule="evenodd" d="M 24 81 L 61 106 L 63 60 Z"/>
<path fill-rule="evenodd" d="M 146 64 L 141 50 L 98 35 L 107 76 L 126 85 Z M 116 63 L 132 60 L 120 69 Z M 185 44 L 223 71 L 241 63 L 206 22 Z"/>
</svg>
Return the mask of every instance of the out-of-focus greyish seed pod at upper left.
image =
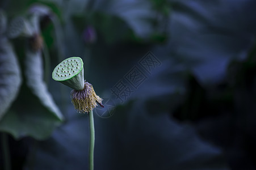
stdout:
<svg viewBox="0 0 256 170">
<path fill-rule="evenodd" d="M 25 18 L 19 16 L 11 21 L 7 35 L 11 39 L 18 36 L 30 37 L 33 35 L 33 31 L 30 23 Z"/>
</svg>

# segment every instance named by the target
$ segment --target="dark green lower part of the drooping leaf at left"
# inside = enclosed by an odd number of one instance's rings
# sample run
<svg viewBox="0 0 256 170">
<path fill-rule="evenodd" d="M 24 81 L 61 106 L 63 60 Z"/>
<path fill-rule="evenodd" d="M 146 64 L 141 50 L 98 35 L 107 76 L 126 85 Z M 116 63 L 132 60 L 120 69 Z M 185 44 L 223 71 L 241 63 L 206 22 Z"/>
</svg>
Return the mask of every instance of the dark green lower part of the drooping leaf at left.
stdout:
<svg viewBox="0 0 256 170">
<path fill-rule="evenodd" d="M 0 122 L 0 130 L 10 133 L 15 139 L 33 137 L 37 140 L 47 139 L 61 121 L 39 98 L 23 84 L 13 107 Z"/>
</svg>

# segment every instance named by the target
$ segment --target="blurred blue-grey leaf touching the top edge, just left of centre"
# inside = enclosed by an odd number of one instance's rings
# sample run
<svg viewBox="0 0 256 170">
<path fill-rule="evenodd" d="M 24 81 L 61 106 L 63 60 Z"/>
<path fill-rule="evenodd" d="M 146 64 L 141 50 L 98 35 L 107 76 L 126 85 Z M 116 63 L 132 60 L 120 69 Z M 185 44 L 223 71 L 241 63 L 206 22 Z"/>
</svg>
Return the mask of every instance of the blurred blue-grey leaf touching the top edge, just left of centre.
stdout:
<svg viewBox="0 0 256 170">
<path fill-rule="evenodd" d="M 112 0 L 98 1 L 93 10 L 117 16 L 125 21 L 139 37 L 147 37 L 153 32 L 149 21 L 154 19 L 154 12 L 149 1 Z"/>
</svg>

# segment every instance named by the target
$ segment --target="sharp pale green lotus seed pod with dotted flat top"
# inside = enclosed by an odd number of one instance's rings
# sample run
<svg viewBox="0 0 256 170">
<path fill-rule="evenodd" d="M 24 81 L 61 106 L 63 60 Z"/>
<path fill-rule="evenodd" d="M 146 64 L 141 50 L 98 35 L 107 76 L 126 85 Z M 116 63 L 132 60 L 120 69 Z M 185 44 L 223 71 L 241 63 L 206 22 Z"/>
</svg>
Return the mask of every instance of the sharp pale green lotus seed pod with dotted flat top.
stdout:
<svg viewBox="0 0 256 170">
<path fill-rule="evenodd" d="M 74 90 L 84 88 L 83 61 L 80 57 L 70 57 L 59 63 L 52 72 L 52 78 Z"/>
</svg>

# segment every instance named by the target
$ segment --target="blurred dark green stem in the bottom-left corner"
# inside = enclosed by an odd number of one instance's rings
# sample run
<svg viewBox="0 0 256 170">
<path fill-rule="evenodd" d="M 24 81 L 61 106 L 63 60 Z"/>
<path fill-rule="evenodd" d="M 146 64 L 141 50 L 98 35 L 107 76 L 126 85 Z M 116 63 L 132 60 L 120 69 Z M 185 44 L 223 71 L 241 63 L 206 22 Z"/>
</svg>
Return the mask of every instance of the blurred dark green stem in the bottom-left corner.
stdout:
<svg viewBox="0 0 256 170">
<path fill-rule="evenodd" d="M 3 169 L 10 170 L 11 160 L 10 160 L 10 151 L 9 151 L 9 145 L 8 145 L 8 136 L 6 133 L 2 133 L 2 150 L 3 150 L 3 159 L 5 161 Z"/>
</svg>

